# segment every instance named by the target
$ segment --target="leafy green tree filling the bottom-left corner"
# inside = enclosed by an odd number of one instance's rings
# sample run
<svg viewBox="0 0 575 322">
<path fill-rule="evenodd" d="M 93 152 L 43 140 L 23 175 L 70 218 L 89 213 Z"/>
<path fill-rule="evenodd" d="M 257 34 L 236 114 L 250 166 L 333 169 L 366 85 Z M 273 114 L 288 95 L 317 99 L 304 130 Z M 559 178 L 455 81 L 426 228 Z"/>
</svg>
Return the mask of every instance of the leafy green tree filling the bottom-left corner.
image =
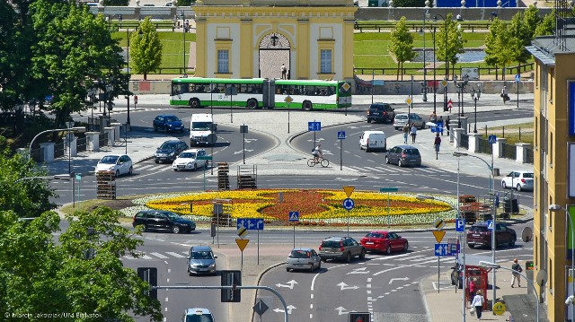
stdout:
<svg viewBox="0 0 575 322">
<path fill-rule="evenodd" d="M 0 212 L 0 309 L 97 314 L 75 320 L 133 321 L 135 314 L 160 321 L 160 302 L 145 295 L 149 284 L 120 260 L 138 257 L 142 241 L 119 225 L 118 216 L 109 208 L 66 216 L 70 226 L 56 243 L 57 213 L 24 224 L 14 213 Z"/>
</svg>

